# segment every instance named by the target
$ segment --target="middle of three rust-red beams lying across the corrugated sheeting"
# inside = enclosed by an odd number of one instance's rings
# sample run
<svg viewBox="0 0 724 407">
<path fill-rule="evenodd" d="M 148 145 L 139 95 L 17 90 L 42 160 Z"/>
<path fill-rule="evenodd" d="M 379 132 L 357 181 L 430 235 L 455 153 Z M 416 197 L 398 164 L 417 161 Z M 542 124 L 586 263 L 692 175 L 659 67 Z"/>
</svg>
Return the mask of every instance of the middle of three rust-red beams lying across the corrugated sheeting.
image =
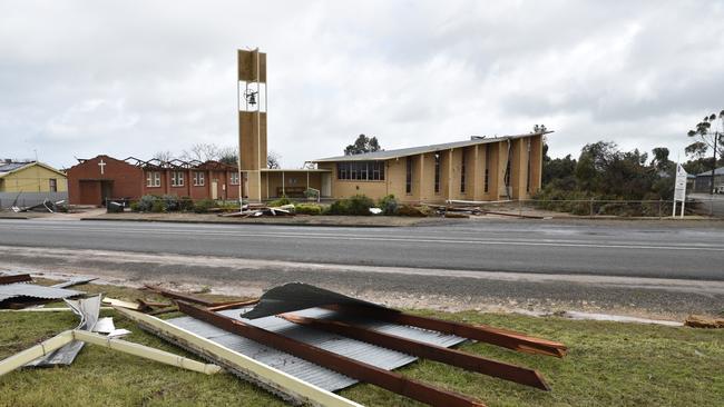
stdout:
<svg viewBox="0 0 724 407">
<path fill-rule="evenodd" d="M 532 369 L 487 359 L 461 350 L 449 349 L 442 346 L 384 334 L 374 329 L 362 328 L 339 320 L 306 318 L 293 314 L 283 314 L 280 317 L 290 322 L 343 335 L 388 349 L 440 361 L 450 366 L 457 366 L 466 370 L 481 373 L 483 375 L 531 386 L 541 390 L 550 390 L 540 374 Z"/>
</svg>

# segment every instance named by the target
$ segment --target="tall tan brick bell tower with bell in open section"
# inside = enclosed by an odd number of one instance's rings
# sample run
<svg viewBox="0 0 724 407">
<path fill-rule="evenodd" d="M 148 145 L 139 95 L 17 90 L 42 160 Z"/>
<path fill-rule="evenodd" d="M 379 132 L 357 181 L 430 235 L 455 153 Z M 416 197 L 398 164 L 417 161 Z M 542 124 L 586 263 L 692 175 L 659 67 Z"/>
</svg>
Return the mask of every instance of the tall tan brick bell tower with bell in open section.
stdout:
<svg viewBox="0 0 724 407">
<path fill-rule="evenodd" d="M 266 53 L 237 50 L 237 71 L 239 196 L 260 202 L 266 168 Z"/>
</svg>

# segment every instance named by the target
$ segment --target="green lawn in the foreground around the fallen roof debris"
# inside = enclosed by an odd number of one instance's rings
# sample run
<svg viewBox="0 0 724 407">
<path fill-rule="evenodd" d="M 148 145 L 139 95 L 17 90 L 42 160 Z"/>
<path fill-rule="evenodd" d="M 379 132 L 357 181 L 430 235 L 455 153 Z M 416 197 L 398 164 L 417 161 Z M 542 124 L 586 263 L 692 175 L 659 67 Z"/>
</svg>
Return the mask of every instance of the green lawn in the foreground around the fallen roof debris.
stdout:
<svg viewBox="0 0 724 407">
<path fill-rule="evenodd" d="M 148 297 L 126 288 L 87 285 L 117 298 Z M 671 328 L 619 322 L 574 321 L 519 315 L 417 311 L 466 322 L 521 330 L 568 345 L 564 359 L 531 356 L 485 344 L 462 349 L 536 368 L 551 391 L 421 360 L 399 371 L 467 394 L 489 406 L 722 406 L 724 330 Z M 143 332 L 114 311 L 116 326 L 134 331 L 126 339 L 189 356 Z M 0 312 L 0 358 L 65 329 L 71 312 Z M 371 406 L 417 403 L 371 385 L 342 396 Z M 205 376 L 87 345 L 70 367 L 18 370 L 0 378 L 0 406 L 274 406 L 277 398 L 227 374 Z"/>
</svg>

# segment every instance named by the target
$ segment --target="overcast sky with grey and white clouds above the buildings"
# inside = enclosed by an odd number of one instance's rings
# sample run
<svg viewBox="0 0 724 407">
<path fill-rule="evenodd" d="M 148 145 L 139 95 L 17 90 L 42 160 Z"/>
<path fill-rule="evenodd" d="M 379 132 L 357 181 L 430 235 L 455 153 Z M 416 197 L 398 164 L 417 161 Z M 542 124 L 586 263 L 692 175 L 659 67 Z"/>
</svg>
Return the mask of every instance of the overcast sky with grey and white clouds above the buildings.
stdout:
<svg viewBox="0 0 724 407">
<path fill-rule="evenodd" d="M 236 143 L 235 50 L 268 60 L 282 165 L 555 130 L 665 146 L 724 109 L 724 1 L 4 1 L 0 158 Z"/>
</svg>

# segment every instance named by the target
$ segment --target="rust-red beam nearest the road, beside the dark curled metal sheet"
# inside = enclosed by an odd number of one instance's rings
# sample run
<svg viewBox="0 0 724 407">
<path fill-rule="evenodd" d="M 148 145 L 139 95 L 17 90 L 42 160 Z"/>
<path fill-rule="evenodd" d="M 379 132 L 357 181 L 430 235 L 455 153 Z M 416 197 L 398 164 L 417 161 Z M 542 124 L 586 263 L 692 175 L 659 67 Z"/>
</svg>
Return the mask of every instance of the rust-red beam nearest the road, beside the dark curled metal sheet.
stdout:
<svg viewBox="0 0 724 407">
<path fill-rule="evenodd" d="M 457 335 L 463 338 L 474 339 L 527 354 L 547 355 L 561 358 L 566 356 L 566 353 L 568 351 L 568 348 L 560 343 L 531 337 L 512 330 L 493 328 L 487 325 L 467 325 L 437 318 L 419 317 L 417 315 L 395 310 L 388 311 L 364 307 L 330 305 L 324 308 L 380 319 L 388 322 L 410 325 L 418 328 L 437 330 L 443 334 Z"/>
</svg>

